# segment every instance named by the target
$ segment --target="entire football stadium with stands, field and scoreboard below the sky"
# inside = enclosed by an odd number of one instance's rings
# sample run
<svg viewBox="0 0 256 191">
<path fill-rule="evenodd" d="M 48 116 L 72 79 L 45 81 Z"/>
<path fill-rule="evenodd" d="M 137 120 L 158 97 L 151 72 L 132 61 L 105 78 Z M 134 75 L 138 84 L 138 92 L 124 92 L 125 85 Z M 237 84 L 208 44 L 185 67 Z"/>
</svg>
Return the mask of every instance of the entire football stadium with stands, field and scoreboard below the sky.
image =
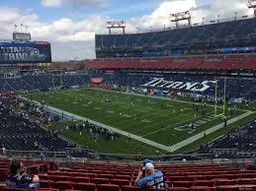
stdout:
<svg viewBox="0 0 256 191">
<path fill-rule="evenodd" d="M 256 190 L 256 1 L 241 5 L 254 14 L 105 21 L 92 59 L 58 59 L 15 24 L 0 40 L 0 191 Z"/>
</svg>

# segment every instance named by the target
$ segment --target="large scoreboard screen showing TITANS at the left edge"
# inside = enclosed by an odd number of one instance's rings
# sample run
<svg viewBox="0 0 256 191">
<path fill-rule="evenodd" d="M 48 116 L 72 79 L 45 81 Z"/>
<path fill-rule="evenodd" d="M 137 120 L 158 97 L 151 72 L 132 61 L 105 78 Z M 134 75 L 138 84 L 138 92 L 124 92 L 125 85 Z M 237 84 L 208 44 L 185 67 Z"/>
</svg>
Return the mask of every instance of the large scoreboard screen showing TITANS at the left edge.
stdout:
<svg viewBox="0 0 256 191">
<path fill-rule="evenodd" d="M 0 42 L 0 64 L 50 62 L 50 43 L 46 41 Z"/>
</svg>

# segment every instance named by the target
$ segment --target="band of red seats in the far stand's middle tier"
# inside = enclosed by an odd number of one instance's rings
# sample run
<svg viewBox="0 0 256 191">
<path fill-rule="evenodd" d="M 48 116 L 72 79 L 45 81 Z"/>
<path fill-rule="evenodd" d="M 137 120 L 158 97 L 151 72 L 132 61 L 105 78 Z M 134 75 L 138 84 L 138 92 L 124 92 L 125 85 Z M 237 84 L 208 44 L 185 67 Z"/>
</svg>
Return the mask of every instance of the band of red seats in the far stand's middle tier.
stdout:
<svg viewBox="0 0 256 191">
<path fill-rule="evenodd" d="M 251 71 L 256 69 L 253 55 L 240 56 L 191 56 L 133 59 L 96 59 L 85 63 L 91 69 L 163 69 L 163 70 L 197 70 L 197 71 Z"/>
</svg>

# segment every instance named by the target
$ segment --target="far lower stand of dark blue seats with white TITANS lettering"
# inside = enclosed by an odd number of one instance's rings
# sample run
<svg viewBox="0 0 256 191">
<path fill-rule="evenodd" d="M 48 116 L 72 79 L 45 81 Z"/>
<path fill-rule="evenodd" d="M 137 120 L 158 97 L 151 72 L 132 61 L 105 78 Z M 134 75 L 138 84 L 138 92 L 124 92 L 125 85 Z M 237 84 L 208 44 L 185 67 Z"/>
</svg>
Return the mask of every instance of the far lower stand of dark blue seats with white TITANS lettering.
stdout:
<svg viewBox="0 0 256 191">
<path fill-rule="evenodd" d="M 153 79 L 158 79 L 154 83 Z M 161 80 L 163 79 L 163 80 Z M 172 93 L 183 93 L 183 94 L 194 94 L 194 95 L 202 95 L 202 96 L 215 96 L 215 80 L 218 80 L 218 94 L 219 96 L 223 95 L 224 89 L 224 78 L 214 76 L 200 76 L 200 75 L 190 75 L 190 74 L 116 74 L 116 75 L 104 75 L 104 80 L 107 83 L 108 87 L 113 85 L 122 86 L 122 87 L 134 87 L 141 89 L 153 89 L 160 90 L 161 93 L 165 91 L 165 94 Z M 162 81 L 162 82 L 161 82 Z M 169 84 L 166 84 L 169 82 Z M 204 88 L 203 83 L 208 82 L 206 86 L 209 86 L 208 89 L 202 90 Z M 158 83 L 158 84 L 156 84 Z M 172 86 L 168 87 L 168 85 L 172 85 L 173 83 L 181 83 L 180 86 Z M 185 86 L 187 83 L 199 83 L 197 86 L 193 88 L 188 88 Z M 226 78 L 226 96 L 227 100 L 231 98 L 243 97 L 247 99 L 254 100 L 256 95 L 254 94 L 255 90 L 255 79 L 250 78 L 235 78 L 228 77 Z M 176 85 L 177 85 L 176 84 Z M 191 85 L 190 84 L 190 85 Z M 142 86 L 146 85 L 146 86 Z M 165 86 L 164 86 L 165 85 Z M 198 91 L 195 90 L 198 89 Z M 140 92 L 141 93 L 141 92 Z"/>
</svg>

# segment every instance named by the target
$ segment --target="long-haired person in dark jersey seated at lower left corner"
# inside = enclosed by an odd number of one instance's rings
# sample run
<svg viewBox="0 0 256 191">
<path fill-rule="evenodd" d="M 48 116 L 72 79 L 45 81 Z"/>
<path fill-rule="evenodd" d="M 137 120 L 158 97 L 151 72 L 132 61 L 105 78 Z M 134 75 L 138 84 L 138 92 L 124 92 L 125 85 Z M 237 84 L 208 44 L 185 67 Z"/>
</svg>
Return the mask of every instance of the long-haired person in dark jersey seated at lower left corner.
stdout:
<svg viewBox="0 0 256 191">
<path fill-rule="evenodd" d="M 39 189 L 40 178 L 38 175 L 27 174 L 24 164 L 19 159 L 13 159 L 9 166 L 6 185 L 12 188 Z"/>
</svg>

